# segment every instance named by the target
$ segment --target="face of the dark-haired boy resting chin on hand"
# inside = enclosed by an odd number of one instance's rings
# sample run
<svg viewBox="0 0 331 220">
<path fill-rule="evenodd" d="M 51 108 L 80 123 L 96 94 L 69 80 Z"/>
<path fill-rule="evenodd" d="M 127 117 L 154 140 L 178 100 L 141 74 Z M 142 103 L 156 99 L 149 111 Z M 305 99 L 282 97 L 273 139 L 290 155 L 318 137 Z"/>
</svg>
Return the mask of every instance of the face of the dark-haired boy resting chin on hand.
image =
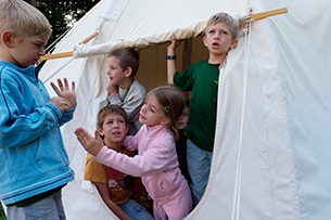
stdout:
<svg viewBox="0 0 331 220">
<path fill-rule="evenodd" d="M 109 57 L 109 65 L 106 75 L 110 78 L 112 85 L 122 85 L 127 77 L 128 69 L 123 69 L 119 65 L 119 60 L 115 56 Z"/>
</svg>

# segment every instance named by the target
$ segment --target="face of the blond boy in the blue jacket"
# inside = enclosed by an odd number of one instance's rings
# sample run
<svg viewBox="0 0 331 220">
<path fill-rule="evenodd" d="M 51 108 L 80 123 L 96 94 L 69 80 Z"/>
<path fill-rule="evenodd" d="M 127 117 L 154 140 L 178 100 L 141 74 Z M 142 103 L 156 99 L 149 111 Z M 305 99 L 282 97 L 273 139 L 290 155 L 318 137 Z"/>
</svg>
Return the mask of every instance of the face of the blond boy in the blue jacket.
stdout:
<svg viewBox="0 0 331 220">
<path fill-rule="evenodd" d="M 36 35 L 24 37 L 23 39 L 13 37 L 10 48 L 9 62 L 21 68 L 36 64 L 40 56 L 44 55 L 44 44 L 49 35 Z"/>
</svg>

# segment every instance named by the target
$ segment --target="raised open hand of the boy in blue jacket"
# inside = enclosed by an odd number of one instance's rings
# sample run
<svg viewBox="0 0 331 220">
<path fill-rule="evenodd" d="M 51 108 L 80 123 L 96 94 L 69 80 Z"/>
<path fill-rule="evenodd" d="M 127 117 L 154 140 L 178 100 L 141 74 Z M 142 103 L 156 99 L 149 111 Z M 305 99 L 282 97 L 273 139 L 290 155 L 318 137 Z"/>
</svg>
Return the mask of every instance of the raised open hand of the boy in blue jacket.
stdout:
<svg viewBox="0 0 331 220">
<path fill-rule="evenodd" d="M 69 108 L 74 107 L 76 105 L 75 81 L 72 81 L 72 89 L 69 88 L 66 78 L 64 78 L 63 81 L 58 79 L 58 86 L 54 82 L 51 82 L 51 87 L 56 92 L 56 94 L 60 98 L 64 98 L 68 102 Z"/>
</svg>

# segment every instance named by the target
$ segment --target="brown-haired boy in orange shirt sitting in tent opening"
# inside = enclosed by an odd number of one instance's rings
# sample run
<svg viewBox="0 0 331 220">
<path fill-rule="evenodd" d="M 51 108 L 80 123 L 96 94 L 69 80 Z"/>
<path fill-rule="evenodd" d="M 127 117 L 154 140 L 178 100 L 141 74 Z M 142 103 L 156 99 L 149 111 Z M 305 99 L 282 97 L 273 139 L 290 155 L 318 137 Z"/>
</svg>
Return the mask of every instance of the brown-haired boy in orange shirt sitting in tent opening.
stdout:
<svg viewBox="0 0 331 220">
<path fill-rule="evenodd" d="M 98 132 L 103 143 L 118 153 L 133 156 L 122 146 L 128 131 L 127 115 L 117 105 L 107 105 L 99 111 Z M 103 202 L 119 219 L 153 219 L 149 211 L 135 199 L 125 184 L 126 174 L 94 160 L 88 154 L 85 167 L 85 180 L 96 184 Z"/>
</svg>

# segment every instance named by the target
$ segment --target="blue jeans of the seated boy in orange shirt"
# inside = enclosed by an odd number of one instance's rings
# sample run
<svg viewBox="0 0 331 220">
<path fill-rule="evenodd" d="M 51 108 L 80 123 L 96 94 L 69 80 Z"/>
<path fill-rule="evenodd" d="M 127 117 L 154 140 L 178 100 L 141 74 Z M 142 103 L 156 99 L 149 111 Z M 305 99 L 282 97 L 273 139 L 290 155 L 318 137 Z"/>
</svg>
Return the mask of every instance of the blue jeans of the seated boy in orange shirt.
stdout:
<svg viewBox="0 0 331 220">
<path fill-rule="evenodd" d="M 135 220 L 154 220 L 150 212 L 133 199 L 129 199 L 125 204 L 119 205 L 119 207 Z"/>
</svg>

